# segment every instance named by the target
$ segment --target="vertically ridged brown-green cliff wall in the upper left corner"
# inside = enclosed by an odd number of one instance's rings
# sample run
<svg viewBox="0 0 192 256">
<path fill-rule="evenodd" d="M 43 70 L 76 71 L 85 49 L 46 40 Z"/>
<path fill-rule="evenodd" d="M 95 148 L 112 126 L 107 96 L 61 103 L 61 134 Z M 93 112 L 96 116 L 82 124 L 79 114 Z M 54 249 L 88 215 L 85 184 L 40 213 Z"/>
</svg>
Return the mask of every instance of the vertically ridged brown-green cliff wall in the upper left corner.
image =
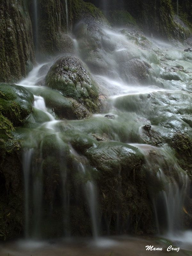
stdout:
<svg viewBox="0 0 192 256">
<path fill-rule="evenodd" d="M 28 61 L 35 63 L 27 2 L 1 1 L 0 20 L 0 81 L 15 82 L 27 75 Z"/>
</svg>

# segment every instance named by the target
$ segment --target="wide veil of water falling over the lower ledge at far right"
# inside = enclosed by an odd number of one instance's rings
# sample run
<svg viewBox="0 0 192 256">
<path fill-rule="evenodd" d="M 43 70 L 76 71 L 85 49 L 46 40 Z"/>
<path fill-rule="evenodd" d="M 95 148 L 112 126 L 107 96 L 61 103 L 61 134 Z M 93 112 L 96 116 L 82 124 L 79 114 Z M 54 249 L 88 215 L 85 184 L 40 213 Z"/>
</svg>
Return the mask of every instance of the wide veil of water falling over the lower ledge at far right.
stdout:
<svg viewBox="0 0 192 256">
<path fill-rule="evenodd" d="M 135 144 L 145 157 L 148 189 L 159 234 L 172 236 L 181 228 L 181 212 L 188 192 L 188 176 L 162 148 Z"/>
</svg>

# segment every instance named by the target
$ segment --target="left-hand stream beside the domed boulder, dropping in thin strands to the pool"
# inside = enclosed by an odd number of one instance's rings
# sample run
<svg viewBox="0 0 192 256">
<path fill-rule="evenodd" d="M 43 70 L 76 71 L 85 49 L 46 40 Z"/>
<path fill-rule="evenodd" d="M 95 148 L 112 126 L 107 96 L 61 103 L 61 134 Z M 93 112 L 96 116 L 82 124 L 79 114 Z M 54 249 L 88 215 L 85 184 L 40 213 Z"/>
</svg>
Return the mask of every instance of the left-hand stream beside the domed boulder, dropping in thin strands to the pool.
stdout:
<svg viewBox="0 0 192 256">
<path fill-rule="evenodd" d="M 34 68 L 29 76 L 21 81 L 19 85 L 26 86 L 31 91 L 36 86 L 37 81 L 39 80 L 39 69 L 45 64 L 39 65 Z M 23 172 L 24 172 L 24 186 L 25 186 L 25 236 L 26 238 L 41 238 L 42 237 L 42 218 L 44 216 L 44 203 L 43 203 L 43 189 L 44 189 L 44 180 L 43 180 L 43 165 L 45 164 L 44 152 L 42 148 L 46 144 L 47 137 L 50 136 L 56 142 L 57 146 L 57 158 L 59 159 L 59 172 L 58 175 L 61 177 L 61 191 L 60 198 L 62 204 L 62 215 L 63 215 L 63 234 L 66 237 L 70 236 L 70 194 L 68 190 L 68 173 L 66 171 L 66 159 L 64 148 L 66 144 L 62 140 L 62 128 L 58 128 L 58 124 L 61 121 L 55 120 L 55 117 L 48 112 L 48 109 L 45 106 L 44 98 L 41 96 L 34 95 L 33 101 L 33 111 L 35 113 L 43 112 L 46 115 L 46 122 L 41 124 L 36 123 L 34 129 L 28 129 L 27 134 L 24 135 L 25 144 L 23 152 Z M 62 122 L 61 122 L 62 123 Z M 35 137 L 34 137 L 35 135 Z M 71 147 L 71 145 L 70 145 Z M 71 147 L 71 154 L 79 157 L 75 150 Z M 54 152 L 52 152 L 54 155 Z M 50 155 L 52 157 L 52 153 Z M 82 176 L 82 190 L 84 191 L 84 198 L 88 204 L 90 219 L 92 223 L 92 236 L 93 238 L 98 237 L 98 217 L 97 217 L 97 196 L 96 196 L 96 187 L 92 181 L 91 174 L 88 169 L 85 169 L 85 166 L 80 162 L 77 166 L 78 172 Z M 88 180 L 87 180 L 88 179 Z M 84 180 L 87 180 L 84 184 Z M 57 181 L 55 181 L 57 182 Z M 49 214 L 50 220 L 53 218 L 53 188 L 49 189 L 50 194 L 50 205 L 49 205 Z M 80 191 L 79 191 L 80 192 Z M 31 207 L 33 205 L 33 207 Z M 30 219 L 31 212 L 33 211 L 33 217 Z"/>
</svg>

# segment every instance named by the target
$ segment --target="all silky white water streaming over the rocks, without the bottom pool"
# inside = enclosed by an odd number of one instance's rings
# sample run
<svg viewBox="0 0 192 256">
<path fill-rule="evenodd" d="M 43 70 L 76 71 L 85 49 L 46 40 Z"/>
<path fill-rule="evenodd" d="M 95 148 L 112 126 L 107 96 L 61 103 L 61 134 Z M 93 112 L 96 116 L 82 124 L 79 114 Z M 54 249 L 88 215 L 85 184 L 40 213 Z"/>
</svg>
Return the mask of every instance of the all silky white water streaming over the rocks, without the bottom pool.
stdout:
<svg viewBox="0 0 192 256">
<path fill-rule="evenodd" d="M 67 1 L 66 1 L 67 2 Z M 66 7 L 67 12 L 67 7 Z M 170 92 L 173 94 L 175 92 L 179 92 L 180 94 L 185 92 L 181 92 L 182 83 L 180 81 L 172 81 L 170 84 L 167 81 L 164 82 L 164 86 L 159 87 L 156 84 L 153 85 L 153 82 L 156 79 L 156 74 L 163 73 L 163 69 L 160 68 L 156 63 L 156 58 L 147 50 L 138 50 L 138 47 L 130 42 L 126 36 L 119 34 L 119 32 L 111 31 L 109 29 L 103 29 L 105 32 L 105 36 L 107 38 L 107 42 L 109 44 L 115 44 L 115 50 L 113 54 L 109 54 L 108 51 L 103 51 L 106 53 L 105 58 L 110 59 L 110 72 L 106 71 L 106 74 L 96 74 L 94 76 L 95 80 L 100 84 L 101 92 L 105 92 L 104 94 L 108 95 L 109 107 L 107 107 L 107 111 L 105 110 L 104 114 L 94 115 L 92 118 L 98 120 L 98 122 L 107 120 L 104 118 L 106 114 L 114 115 L 115 119 L 111 119 L 110 129 L 111 129 L 111 140 L 122 141 L 121 134 L 118 133 L 116 129 L 116 125 L 122 124 L 123 131 L 126 131 L 127 134 L 130 132 L 129 129 L 132 126 L 132 130 L 140 132 L 144 122 L 150 124 L 148 118 L 146 118 L 145 111 L 148 110 L 148 106 L 144 109 L 137 110 L 134 104 L 131 106 L 131 102 L 135 102 L 138 97 L 142 97 L 142 95 L 150 95 L 150 93 L 164 93 Z M 76 47 L 78 47 L 77 40 Z M 103 39 L 104 40 L 104 39 Z M 172 50 L 168 51 L 167 48 L 171 47 L 163 42 L 156 41 L 155 42 L 159 48 L 161 48 L 161 54 L 172 54 Z M 154 44 L 154 42 L 151 42 Z M 105 45 L 106 47 L 106 45 Z M 157 47 L 157 46 L 154 46 Z M 165 50 L 166 49 L 166 50 Z M 81 49 L 80 49 L 81 50 Z M 76 50 L 76 53 L 81 52 L 79 49 Z M 181 50 L 177 50 L 180 54 Z M 127 74 L 123 69 L 119 69 L 121 67 L 121 63 L 124 63 L 128 54 L 136 56 L 142 60 L 151 60 L 151 67 L 153 68 L 153 72 L 148 76 L 148 85 L 147 83 L 141 85 L 135 85 L 131 83 L 126 83 Z M 160 52 L 160 50 L 159 50 Z M 82 57 L 82 56 L 81 56 Z M 152 60 L 154 58 L 154 60 Z M 38 86 L 36 85 L 37 81 L 40 79 L 38 75 L 39 69 L 44 64 L 39 65 L 34 68 L 29 76 L 23 80 L 19 85 L 28 88 L 31 92 L 35 93 L 38 91 Z M 89 66 L 89 64 L 88 64 Z M 190 66 L 190 65 L 189 65 Z M 189 68 L 192 67 L 190 66 Z M 114 77 L 114 78 L 113 78 Z M 167 88 L 166 88 L 167 85 Z M 47 89 L 46 87 L 42 87 L 42 89 Z M 47 89 L 48 90 L 48 89 Z M 50 89 L 49 89 L 50 90 Z M 127 97 L 127 98 L 126 98 Z M 126 100 L 127 99 L 127 100 Z M 126 103 L 124 103 L 126 100 Z M 132 101 L 133 100 L 133 101 Z M 126 105 L 128 104 L 128 105 Z M 151 106 L 149 106 L 151 108 Z M 63 234 L 62 236 L 69 237 L 71 234 L 71 224 L 70 224 L 70 195 L 68 190 L 68 176 L 67 168 L 65 169 L 65 151 L 66 145 L 62 140 L 62 129 L 79 129 L 80 132 L 84 132 L 84 128 L 81 125 L 78 126 L 78 122 L 81 121 L 60 121 L 56 118 L 54 114 L 54 109 L 46 108 L 45 101 L 43 97 L 34 95 L 33 102 L 33 112 L 38 112 L 44 114 L 46 116 L 47 122 L 42 124 L 37 124 L 34 119 L 32 122 L 34 123 L 34 127 L 25 128 L 25 144 L 23 148 L 23 171 L 24 171 L 24 182 L 25 182 L 25 235 L 27 238 L 35 237 L 41 238 L 42 236 L 42 223 L 44 219 L 44 203 L 43 203 L 43 190 L 44 190 L 44 175 L 42 173 L 42 166 L 44 164 L 44 152 L 42 150 L 43 144 L 47 136 L 54 138 L 57 141 L 57 144 L 60 147 L 57 149 L 57 156 L 60 159 L 59 164 L 59 172 L 56 175 L 61 176 L 61 181 L 55 178 L 54 182 L 61 182 L 61 189 L 58 193 L 61 193 L 62 198 L 57 204 L 61 204 L 61 223 L 63 225 Z M 132 115 L 143 115 L 144 117 L 140 118 L 142 122 L 138 122 L 138 125 L 135 122 L 131 122 L 129 126 L 125 127 L 124 118 L 127 113 L 132 113 Z M 136 113 L 136 114 L 134 114 Z M 131 114 L 130 114 L 131 115 Z M 30 117 L 33 119 L 33 115 Z M 135 117 L 134 117 L 135 118 Z M 107 120 L 109 122 L 109 120 Z M 136 126 L 135 126 L 136 125 Z M 181 218 L 182 218 L 182 208 L 185 207 L 185 198 L 188 193 L 188 176 L 186 173 L 179 167 L 176 160 L 172 156 L 170 152 L 168 152 L 165 148 L 157 148 L 154 146 L 144 145 L 141 143 L 142 138 L 135 139 L 127 135 L 128 144 L 133 145 L 136 148 L 139 148 L 140 152 L 144 156 L 146 169 L 147 169 L 147 177 L 148 177 L 148 193 L 151 198 L 151 201 L 154 206 L 154 214 L 156 219 L 156 227 L 158 229 L 159 234 L 173 236 L 175 231 L 180 229 Z M 141 136 L 142 137 L 142 136 Z M 130 142 L 130 143 L 129 143 Z M 141 144 L 138 144 L 141 143 Z M 132 144 L 134 143 L 134 144 Z M 137 144 L 135 144 L 137 143 Z M 70 145 L 72 155 L 76 155 L 77 153 L 74 151 L 73 147 Z M 50 155 L 54 155 L 54 152 L 50 152 Z M 77 158 L 79 159 L 79 155 L 77 154 Z M 78 161 L 77 161 L 78 162 Z M 87 159 L 85 160 L 86 164 L 83 164 L 79 161 L 79 164 L 76 165 L 76 175 L 80 177 L 80 185 L 79 191 L 76 193 L 84 194 L 84 200 L 88 205 L 89 215 L 91 219 L 91 227 L 92 227 L 92 236 L 97 238 L 99 236 L 99 217 L 98 217 L 98 195 L 97 195 L 97 186 L 94 183 L 94 179 L 92 177 L 91 167 L 89 163 L 87 163 Z M 50 214 L 50 221 L 52 221 L 53 214 L 53 204 L 54 204 L 54 185 L 53 187 L 48 187 L 50 189 L 49 206 L 46 206 Z M 33 205 L 33 207 L 31 207 Z M 33 214 L 31 214 L 33 211 Z M 30 216 L 33 216 L 33 219 L 30 219 Z M 118 216 L 117 216 L 118 220 Z M 118 221 L 117 221 L 118 222 Z M 118 226 L 118 223 L 117 223 Z M 117 227 L 117 230 L 120 229 Z"/>
</svg>

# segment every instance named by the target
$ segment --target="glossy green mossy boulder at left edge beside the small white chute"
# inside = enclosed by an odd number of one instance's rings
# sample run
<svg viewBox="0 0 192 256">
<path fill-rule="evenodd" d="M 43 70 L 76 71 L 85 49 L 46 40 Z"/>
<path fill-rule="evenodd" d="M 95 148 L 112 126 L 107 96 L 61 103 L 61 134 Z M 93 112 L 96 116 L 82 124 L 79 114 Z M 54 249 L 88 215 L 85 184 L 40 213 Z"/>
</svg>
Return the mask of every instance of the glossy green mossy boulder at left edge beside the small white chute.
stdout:
<svg viewBox="0 0 192 256">
<path fill-rule="evenodd" d="M 23 125 L 32 111 L 33 94 L 22 86 L 0 84 L 0 112 L 14 126 Z"/>
</svg>

